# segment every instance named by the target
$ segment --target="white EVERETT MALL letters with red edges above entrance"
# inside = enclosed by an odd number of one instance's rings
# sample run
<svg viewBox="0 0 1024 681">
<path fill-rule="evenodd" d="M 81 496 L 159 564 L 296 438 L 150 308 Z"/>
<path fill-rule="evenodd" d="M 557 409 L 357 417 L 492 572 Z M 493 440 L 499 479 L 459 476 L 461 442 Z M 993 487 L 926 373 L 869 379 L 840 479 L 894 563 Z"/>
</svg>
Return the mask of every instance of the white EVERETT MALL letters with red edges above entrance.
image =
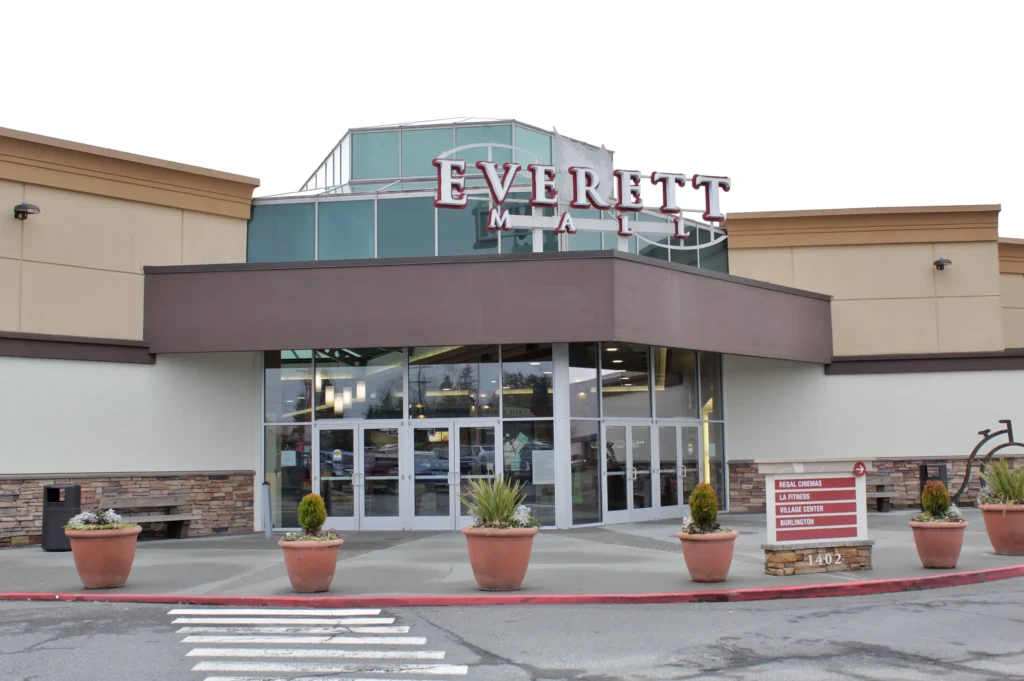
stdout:
<svg viewBox="0 0 1024 681">
<path fill-rule="evenodd" d="M 465 208 L 469 203 L 469 198 L 466 196 L 466 162 L 457 159 L 434 159 L 433 165 L 437 168 L 437 195 L 434 199 L 434 206 L 437 208 Z M 486 182 L 487 190 L 495 204 L 487 218 L 487 228 L 509 230 L 512 228 L 508 221 L 509 212 L 503 208 L 503 205 L 512 189 L 516 175 L 522 170 L 522 166 L 518 163 L 506 163 L 502 165 L 503 172 L 499 172 L 498 165 L 493 161 L 480 161 L 476 167 L 483 173 L 483 180 Z M 529 205 L 557 207 L 558 190 L 555 188 L 557 168 L 552 165 L 530 164 L 526 166 L 525 172 L 530 175 Z M 618 235 L 629 237 L 633 233 L 629 214 L 637 213 L 644 208 L 643 200 L 640 198 L 643 175 L 639 171 L 615 170 L 612 173 L 615 177 L 615 194 L 617 196 L 614 203 L 598 194 L 600 179 L 592 168 L 569 166 L 568 172 L 572 180 L 572 200 L 568 202 L 571 208 L 617 211 L 615 219 L 618 220 Z M 728 177 L 718 175 L 687 177 L 682 173 L 653 172 L 650 174 L 650 181 L 662 188 L 662 206 L 658 210 L 664 215 L 675 217 L 677 238 L 684 239 L 687 236 L 683 220 L 679 217 L 682 214 L 682 209 L 677 203 L 677 187 L 690 185 L 697 190 L 703 189 L 703 219 L 708 222 L 723 222 L 725 220 L 725 215 L 719 204 L 719 190 L 728 191 L 729 187 L 732 186 L 732 180 Z M 567 212 L 562 213 L 559 218 L 556 231 L 575 233 L 577 229 L 572 224 L 572 217 Z"/>
</svg>

